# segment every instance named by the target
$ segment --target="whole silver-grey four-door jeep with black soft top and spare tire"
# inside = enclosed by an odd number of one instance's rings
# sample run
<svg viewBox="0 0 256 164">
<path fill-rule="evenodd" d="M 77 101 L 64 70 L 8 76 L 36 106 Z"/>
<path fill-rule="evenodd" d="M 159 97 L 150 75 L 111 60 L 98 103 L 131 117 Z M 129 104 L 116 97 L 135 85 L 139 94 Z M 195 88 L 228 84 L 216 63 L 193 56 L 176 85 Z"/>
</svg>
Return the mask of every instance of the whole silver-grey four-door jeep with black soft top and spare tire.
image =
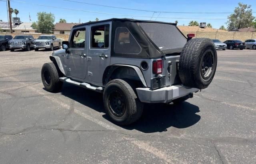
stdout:
<svg viewBox="0 0 256 164">
<path fill-rule="evenodd" d="M 207 88 L 217 66 L 212 40 L 186 38 L 176 24 L 109 19 L 72 28 L 41 76 L 49 92 L 67 82 L 103 93 L 117 124 L 140 118 L 143 103 L 175 104 Z"/>
</svg>

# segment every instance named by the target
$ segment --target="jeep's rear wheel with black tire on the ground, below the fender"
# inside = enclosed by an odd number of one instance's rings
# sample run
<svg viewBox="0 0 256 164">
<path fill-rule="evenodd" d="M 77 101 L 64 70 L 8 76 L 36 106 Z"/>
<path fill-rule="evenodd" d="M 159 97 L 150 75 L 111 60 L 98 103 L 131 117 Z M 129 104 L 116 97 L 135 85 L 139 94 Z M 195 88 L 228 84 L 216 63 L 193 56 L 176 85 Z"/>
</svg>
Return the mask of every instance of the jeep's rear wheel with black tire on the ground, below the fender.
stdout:
<svg viewBox="0 0 256 164">
<path fill-rule="evenodd" d="M 113 110 L 111 105 L 113 103 L 112 98 L 114 97 L 112 94 L 116 93 L 121 94 L 121 99 L 124 103 L 122 101 L 120 102 L 125 107 L 122 108 L 124 111 L 121 112 L 120 116 L 117 116 L 118 113 Z M 114 79 L 108 82 L 103 92 L 103 102 L 106 113 L 116 124 L 132 124 L 140 118 L 143 112 L 143 103 L 140 102 L 132 87 L 121 79 Z"/>
</svg>

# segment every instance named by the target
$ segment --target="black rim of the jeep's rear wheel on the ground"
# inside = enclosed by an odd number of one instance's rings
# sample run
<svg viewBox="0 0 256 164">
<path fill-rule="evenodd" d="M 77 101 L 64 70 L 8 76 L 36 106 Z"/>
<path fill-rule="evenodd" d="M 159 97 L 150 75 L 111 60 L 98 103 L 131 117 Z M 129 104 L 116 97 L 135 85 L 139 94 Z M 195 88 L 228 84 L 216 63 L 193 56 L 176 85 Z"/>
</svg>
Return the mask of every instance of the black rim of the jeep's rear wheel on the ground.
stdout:
<svg viewBox="0 0 256 164">
<path fill-rule="evenodd" d="M 112 90 L 108 96 L 108 106 L 114 116 L 121 117 L 126 111 L 126 101 L 120 90 Z"/>
</svg>

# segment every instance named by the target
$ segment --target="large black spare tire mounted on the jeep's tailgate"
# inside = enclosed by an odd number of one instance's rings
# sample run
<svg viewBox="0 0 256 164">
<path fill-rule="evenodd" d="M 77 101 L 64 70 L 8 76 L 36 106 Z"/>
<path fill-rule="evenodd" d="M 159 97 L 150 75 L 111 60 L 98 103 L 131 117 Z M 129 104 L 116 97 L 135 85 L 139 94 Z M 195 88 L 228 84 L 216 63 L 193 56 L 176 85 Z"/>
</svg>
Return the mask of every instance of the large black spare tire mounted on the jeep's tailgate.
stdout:
<svg viewBox="0 0 256 164">
<path fill-rule="evenodd" d="M 204 89 L 209 86 L 217 67 L 217 52 L 208 38 L 189 40 L 182 49 L 179 76 L 184 86 Z"/>
</svg>

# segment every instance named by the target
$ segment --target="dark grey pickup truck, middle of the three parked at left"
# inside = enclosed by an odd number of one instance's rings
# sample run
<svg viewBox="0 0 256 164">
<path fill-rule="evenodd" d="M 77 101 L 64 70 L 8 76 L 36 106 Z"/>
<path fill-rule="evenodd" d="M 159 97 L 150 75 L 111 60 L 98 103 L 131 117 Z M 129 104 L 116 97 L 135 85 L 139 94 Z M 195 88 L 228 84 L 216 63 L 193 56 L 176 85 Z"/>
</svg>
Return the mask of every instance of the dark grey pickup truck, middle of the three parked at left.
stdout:
<svg viewBox="0 0 256 164">
<path fill-rule="evenodd" d="M 16 35 L 12 40 L 9 41 L 10 51 L 16 49 L 22 49 L 30 51 L 34 45 L 34 37 L 32 35 Z"/>
</svg>

